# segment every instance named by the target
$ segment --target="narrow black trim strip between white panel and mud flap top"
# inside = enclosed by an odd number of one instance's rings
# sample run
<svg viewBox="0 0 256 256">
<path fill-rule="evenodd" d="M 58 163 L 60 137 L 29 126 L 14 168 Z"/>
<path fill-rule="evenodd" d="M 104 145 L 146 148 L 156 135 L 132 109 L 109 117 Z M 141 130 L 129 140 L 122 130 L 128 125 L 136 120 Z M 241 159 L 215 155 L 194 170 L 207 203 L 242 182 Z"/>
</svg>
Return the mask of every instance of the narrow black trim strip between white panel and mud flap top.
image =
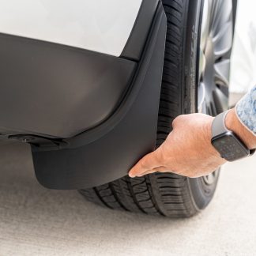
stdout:
<svg viewBox="0 0 256 256">
<path fill-rule="evenodd" d="M 134 28 L 132 29 L 126 46 L 120 55 L 121 58 L 129 58 L 139 61 L 158 4 L 159 0 L 143 0 L 139 13 L 137 14 Z"/>
</svg>

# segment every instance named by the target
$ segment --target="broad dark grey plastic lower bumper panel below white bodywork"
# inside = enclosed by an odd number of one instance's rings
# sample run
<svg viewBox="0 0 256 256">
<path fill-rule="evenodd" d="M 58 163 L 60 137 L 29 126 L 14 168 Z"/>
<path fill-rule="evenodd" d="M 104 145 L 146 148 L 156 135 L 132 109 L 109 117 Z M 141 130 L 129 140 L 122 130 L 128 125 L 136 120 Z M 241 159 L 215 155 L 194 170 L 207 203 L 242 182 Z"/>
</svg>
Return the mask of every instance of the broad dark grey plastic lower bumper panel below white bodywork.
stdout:
<svg viewBox="0 0 256 256">
<path fill-rule="evenodd" d="M 0 133 L 73 137 L 122 101 L 137 62 L 0 33 Z"/>
</svg>

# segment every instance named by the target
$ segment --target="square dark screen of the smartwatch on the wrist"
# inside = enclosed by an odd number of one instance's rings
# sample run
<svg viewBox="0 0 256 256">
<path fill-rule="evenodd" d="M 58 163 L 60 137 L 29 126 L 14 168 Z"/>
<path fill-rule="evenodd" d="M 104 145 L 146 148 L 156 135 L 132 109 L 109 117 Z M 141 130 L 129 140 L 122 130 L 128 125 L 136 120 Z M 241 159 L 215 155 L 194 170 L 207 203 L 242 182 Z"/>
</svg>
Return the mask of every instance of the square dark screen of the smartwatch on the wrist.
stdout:
<svg viewBox="0 0 256 256">
<path fill-rule="evenodd" d="M 250 151 L 243 145 L 243 142 L 232 133 L 213 137 L 212 144 L 220 152 L 220 156 L 228 161 L 238 160 L 250 155 Z"/>
</svg>

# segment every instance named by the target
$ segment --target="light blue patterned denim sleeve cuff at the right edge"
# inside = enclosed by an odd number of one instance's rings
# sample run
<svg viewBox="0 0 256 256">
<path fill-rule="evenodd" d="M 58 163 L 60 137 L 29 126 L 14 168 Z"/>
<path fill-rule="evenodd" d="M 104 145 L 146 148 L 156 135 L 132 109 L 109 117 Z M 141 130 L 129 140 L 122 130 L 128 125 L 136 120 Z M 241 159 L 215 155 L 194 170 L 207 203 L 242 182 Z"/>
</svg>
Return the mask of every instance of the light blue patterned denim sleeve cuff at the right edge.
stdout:
<svg viewBox="0 0 256 256">
<path fill-rule="evenodd" d="M 256 136 L 256 86 L 236 104 L 235 112 L 243 125 Z"/>
</svg>

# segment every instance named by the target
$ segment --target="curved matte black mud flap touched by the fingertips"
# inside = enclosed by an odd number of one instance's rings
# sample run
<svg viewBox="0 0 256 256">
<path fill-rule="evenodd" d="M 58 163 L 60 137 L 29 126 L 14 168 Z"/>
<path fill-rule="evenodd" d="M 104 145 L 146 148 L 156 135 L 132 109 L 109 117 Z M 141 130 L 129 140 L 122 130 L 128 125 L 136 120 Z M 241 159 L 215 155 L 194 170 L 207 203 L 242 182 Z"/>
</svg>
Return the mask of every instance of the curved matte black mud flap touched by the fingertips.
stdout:
<svg viewBox="0 0 256 256">
<path fill-rule="evenodd" d="M 166 24 L 160 5 L 132 86 L 114 115 L 64 140 L 67 145 L 32 145 L 36 178 L 43 186 L 81 189 L 119 179 L 155 148 Z"/>
</svg>

